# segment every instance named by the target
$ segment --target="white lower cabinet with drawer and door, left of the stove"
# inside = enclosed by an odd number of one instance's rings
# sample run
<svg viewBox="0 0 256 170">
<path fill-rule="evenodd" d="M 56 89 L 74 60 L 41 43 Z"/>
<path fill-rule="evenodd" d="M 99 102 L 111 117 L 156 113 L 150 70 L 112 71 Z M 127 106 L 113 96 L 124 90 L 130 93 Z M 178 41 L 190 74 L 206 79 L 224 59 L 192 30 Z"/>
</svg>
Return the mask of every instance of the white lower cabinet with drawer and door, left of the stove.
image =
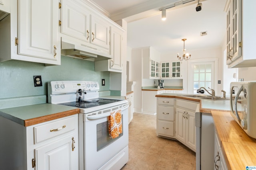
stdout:
<svg viewBox="0 0 256 170">
<path fill-rule="evenodd" d="M 27 127 L 0 116 L 0 127 L 2 169 L 78 170 L 78 115 Z"/>
</svg>

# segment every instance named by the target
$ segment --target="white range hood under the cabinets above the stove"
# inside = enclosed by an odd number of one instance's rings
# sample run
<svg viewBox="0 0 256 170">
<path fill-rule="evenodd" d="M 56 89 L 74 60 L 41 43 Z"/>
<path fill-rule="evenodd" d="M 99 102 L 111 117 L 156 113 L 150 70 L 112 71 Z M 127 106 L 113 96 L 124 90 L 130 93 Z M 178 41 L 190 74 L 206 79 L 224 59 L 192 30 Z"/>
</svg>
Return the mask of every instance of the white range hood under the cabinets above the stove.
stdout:
<svg viewBox="0 0 256 170">
<path fill-rule="evenodd" d="M 87 45 L 61 37 L 61 54 L 78 59 L 99 61 L 108 60 L 113 57 L 107 53 L 92 49 Z"/>
</svg>

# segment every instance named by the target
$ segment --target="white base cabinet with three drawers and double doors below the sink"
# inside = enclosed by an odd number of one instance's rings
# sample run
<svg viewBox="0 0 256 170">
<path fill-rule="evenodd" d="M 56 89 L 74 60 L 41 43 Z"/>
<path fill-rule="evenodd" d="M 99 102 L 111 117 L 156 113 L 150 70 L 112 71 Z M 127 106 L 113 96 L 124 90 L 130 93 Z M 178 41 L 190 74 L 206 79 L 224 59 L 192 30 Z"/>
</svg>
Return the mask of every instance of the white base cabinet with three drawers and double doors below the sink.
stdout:
<svg viewBox="0 0 256 170">
<path fill-rule="evenodd" d="M 195 112 L 198 109 L 197 102 L 157 98 L 156 134 L 177 139 L 196 152 Z"/>
</svg>

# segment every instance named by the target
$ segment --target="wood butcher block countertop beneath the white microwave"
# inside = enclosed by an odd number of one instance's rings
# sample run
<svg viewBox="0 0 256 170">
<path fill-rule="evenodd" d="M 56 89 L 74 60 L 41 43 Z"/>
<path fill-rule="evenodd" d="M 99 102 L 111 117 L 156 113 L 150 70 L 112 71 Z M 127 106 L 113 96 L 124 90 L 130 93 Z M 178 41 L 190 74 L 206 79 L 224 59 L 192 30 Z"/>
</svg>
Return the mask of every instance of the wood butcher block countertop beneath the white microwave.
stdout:
<svg viewBox="0 0 256 170">
<path fill-rule="evenodd" d="M 256 139 L 242 130 L 229 111 L 212 111 L 212 116 L 228 169 L 256 166 Z"/>
</svg>

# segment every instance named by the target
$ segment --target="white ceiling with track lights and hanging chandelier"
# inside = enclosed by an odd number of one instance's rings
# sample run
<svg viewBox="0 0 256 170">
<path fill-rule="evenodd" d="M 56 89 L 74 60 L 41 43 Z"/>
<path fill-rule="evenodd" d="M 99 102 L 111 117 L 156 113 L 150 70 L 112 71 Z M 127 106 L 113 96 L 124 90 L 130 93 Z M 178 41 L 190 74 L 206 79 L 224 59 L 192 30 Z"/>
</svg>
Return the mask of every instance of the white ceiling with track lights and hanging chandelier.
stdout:
<svg viewBox="0 0 256 170">
<path fill-rule="evenodd" d="M 197 0 L 166 10 L 161 20 L 160 8 L 177 0 L 91 0 L 101 6 L 112 20 L 128 21 L 127 45 L 131 48 L 152 46 L 161 53 L 182 53 L 192 49 L 220 47 L 226 36 L 225 0 L 200 0 L 202 10 L 196 12 Z M 156 3 L 157 2 L 157 3 Z M 206 36 L 200 32 L 207 31 Z"/>
</svg>

